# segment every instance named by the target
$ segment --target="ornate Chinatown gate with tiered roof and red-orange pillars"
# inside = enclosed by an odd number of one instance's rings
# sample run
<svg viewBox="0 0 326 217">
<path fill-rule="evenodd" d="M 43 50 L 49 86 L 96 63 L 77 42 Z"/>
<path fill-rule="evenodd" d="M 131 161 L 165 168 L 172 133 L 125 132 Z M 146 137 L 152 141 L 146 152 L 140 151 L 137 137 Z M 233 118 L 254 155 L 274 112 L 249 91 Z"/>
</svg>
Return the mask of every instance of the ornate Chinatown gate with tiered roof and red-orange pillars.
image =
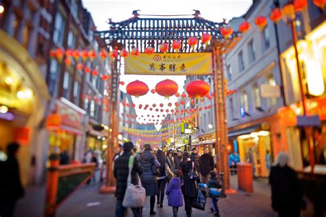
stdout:
<svg viewBox="0 0 326 217">
<path fill-rule="evenodd" d="M 226 121 L 226 105 L 225 97 L 226 83 L 224 83 L 224 65 L 223 56 L 228 50 L 239 41 L 236 33 L 232 33 L 225 37 L 225 34 L 221 34 L 222 28 L 226 26 L 225 21 L 222 23 L 215 23 L 199 17 L 200 12 L 195 11 L 195 14 L 191 15 L 140 15 L 137 11 L 133 12 L 133 17 L 121 21 L 113 22 L 109 20 L 109 30 L 96 32 L 96 35 L 102 39 L 105 39 L 107 48 L 110 50 L 116 50 L 116 56 L 112 59 L 111 64 L 111 81 L 109 87 L 109 127 L 112 129 L 108 135 L 108 148 L 107 148 L 107 178 L 105 185 L 100 188 L 100 192 L 113 192 L 114 191 L 114 179 L 113 179 L 113 154 L 114 150 L 118 149 L 118 134 L 119 134 L 119 76 L 120 70 L 126 65 L 125 74 L 184 74 L 191 75 L 205 75 L 213 74 L 214 80 L 214 103 L 215 103 L 215 154 L 217 155 L 217 171 L 224 173 L 224 186 L 225 189 L 230 189 L 230 174 L 228 166 L 228 152 L 226 146 L 228 145 L 228 132 Z M 146 18 L 142 18 L 142 16 Z M 153 18 L 148 18 L 153 17 Z M 162 18 L 161 18 L 162 17 Z M 173 17 L 173 18 L 171 18 Z M 211 40 L 204 43 L 202 41 L 202 34 L 210 34 Z M 198 40 L 194 44 L 189 45 L 188 40 L 191 37 L 195 37 Z M 140 55 L 132 56 L 133 60 L 137 61 L 144 55 L 146 48 L 151 46 L 154 53 L 151 56 L 162 56 L 160 45 L 166 43 L 169 45 L 164 54 L 175 54 L 175 50 L 171 47 L 173 41 L 180 41 L 181 48 L 177 51 L 177 54 L 209 54 L 210 72 L 160 72 L 160 68 L 153 68 L 153 65 L 146 65 L 146 70 L 140 71 L 140 68 L 133 70 L 137 67 L 128 67 L 129 56 L 124 58 L 124 65 L 122 65 L 121 52 L 118 50 L 127 50 L 131 52 L 133 48 L 138 48 Z M 194 55 L 196 56 L 196 55 Z M 145 58 L 146 59 L 146 58 Z M 200 61 L 197 60 L 197 63 Z M 191 63 L 189 63 L 191 65 Z M 137 65 L 137 64 L 136 64 Z M 139 64 L 138 64 L 139 65 Z M 194 66 L 194 65 L 193 65 Z M 178 65 L 177 65 L 178 67 Z M 180 66 L 181 67 L 181 66 Z M 127 69 L 131 68 L 131 69 Z M 194 67 L 195 68 L 195 67 Z"/>
</svg>

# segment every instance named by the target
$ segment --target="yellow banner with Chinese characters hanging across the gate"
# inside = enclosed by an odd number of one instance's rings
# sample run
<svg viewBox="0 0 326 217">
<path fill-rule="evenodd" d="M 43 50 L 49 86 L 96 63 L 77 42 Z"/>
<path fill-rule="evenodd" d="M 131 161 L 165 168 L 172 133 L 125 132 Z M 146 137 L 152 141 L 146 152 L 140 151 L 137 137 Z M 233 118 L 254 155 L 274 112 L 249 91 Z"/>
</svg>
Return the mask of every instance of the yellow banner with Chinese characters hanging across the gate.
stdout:
<svg viewBox="0 0 326 217">
<path fill-rule="evenodd" d="M 124 66 L 124 74 L 211 74 L 212 56 L 209 52 L 128 55 L 124 57 Z"/>
</svg>

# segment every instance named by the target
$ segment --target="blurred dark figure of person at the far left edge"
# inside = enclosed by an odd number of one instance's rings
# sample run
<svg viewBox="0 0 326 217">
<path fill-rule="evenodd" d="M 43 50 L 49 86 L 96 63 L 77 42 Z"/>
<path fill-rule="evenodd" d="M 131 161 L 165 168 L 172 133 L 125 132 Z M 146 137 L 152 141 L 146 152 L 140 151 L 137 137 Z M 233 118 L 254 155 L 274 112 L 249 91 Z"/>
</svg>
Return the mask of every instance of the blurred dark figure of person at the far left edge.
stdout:
<svg viewBox="0 0 326 217">
<path fill-rule="evenodd" d="M 14 215 L 17 200 L 25 194 L 19 174 L 18 152 L 18 143 L 8 144 L 8 158 L 6 161 L 0 162 L 0 216 L 3 217 Z"/>
</svg>

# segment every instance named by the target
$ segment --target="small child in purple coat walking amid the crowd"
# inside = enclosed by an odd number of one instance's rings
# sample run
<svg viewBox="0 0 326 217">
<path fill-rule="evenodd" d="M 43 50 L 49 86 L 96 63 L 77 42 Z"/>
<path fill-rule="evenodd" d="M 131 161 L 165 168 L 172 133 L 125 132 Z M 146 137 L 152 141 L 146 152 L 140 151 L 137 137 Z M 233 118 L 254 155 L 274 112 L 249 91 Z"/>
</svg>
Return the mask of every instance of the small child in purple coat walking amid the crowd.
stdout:
<svg viewBox="0 0 326 217">
<path fill-rule="evenodd" d="M 169 207 L 172 207 L 173 217 L 177 217 L 179 207 L 184 205 L 182 202 L 181 185 L 182 180 L 180 178 L 180 172 L 179 170 L 175 169 L 173 170 L 173 178 L 166 189 L 166 195 L 169 196 L 168 205 Z"/>
</svg>

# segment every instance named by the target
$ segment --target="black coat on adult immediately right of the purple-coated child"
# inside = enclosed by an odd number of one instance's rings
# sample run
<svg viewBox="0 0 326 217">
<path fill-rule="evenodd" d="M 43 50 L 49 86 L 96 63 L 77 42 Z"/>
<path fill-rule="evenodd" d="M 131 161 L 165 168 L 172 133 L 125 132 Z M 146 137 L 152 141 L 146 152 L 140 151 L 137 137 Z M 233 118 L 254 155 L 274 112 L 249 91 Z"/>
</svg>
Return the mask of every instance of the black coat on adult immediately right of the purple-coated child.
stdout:
<svg viewBox="0 0 326 217">
<path fill-rule="evenodd" d="M 184 185 L 182 185 L 182 194 L 185 196 L 197 196 L 197 185 L 194 179 L 189 177 L 189 172 L 193 171 L 193 161 L 187 161 L 180 163 L 180 169 L 182 172 L 182 178 L 184 180 Z M 194 168 L 194 170 L 196 170 Z"/>
</svg>

